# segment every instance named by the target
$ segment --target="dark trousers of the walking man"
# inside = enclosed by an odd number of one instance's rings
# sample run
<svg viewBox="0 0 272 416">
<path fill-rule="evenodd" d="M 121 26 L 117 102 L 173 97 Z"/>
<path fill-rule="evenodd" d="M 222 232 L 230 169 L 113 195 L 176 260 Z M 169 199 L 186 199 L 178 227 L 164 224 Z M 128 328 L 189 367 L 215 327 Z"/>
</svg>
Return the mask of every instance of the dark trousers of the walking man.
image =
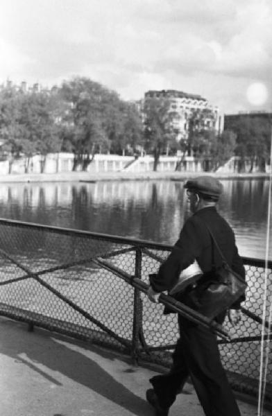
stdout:
<svg viewBox="0 0 272 416">
<path fill-rule="evenodd" d="M 206 416 L 241 416 L 214 333 L 184 318 L 179 318 L 179 325 L 180 339 L 170 372 L 150 380 L 161 406 L 169 408 L 173 404 L 190 376 Z"/>
</svg>

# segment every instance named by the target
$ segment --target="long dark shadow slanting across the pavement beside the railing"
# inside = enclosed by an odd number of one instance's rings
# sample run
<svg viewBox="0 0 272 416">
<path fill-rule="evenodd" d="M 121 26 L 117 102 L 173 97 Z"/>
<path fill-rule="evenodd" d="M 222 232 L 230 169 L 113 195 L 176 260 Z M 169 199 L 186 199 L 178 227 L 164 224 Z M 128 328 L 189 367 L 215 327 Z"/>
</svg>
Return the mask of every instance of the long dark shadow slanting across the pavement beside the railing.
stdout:
<svg viewBox="0 0 272 416">
<path fill-rule="evenodd" d="M 122 358 L 111 352 L 105 351 L 92 345 L 83 345 L 71 338 L 60 336 L 56 333 L 49 333 L 42 329 L 35 329 L 34 333 L 28 332 L 25 324 L 12 320 L 1 319 L 0 353 L 14 358 L 17 362 L 28 365 L 50 383 L 61 385 L 60 381 L 46 370 L 40 370 L 37 366 L 44 365 L 52 372 L 60 372 L 69 379 L 85 385 L 92 391 L 126 408 L 135 415 L 151 414 L 151 408 L 144 399 L 131 392 L 126 385 L 123 385 L 107 371 L 103 370 L 98 362 L 84 354 L 94 353 L 100 356 L 97 361 L 116 360 Z M 54 339 L 55 338 L 55 339 Z M 59 341 L 59 342 L 58 342 Z M 65 344 L 69 343 L 71 348 Z M 74 349 L 73 349 L 74 347 Z M 76 351 L 82 349 L 83 354 Z M 26 359 L 23 356 L 26 356 Z M 31 363 L 28 361 L 31 361 Z M 126 362 L 126 359 L 124 359 Z M 37 365 L 35 365 L 37 364 Z M 103 365 L 105 367 L 105 365 Z M 129 367 L 129 364 L 128 364 Z M 50 372 L 50 371 L 49 371 Z M 133 370 L 124 370 L 133 372 Z"/>
</svg>

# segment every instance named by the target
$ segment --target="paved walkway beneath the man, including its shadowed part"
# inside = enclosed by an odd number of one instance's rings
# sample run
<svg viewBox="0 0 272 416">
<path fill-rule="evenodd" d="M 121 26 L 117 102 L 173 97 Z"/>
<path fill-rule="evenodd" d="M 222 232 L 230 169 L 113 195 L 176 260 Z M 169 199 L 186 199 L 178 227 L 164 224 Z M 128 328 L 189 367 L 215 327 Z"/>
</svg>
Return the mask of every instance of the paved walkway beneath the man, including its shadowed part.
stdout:
<svg viewBox="0 0 272 416">
<path fill-rule="evenodd" d="M 1 416 L 152 416 L 145 401 L 156 374 L 108 349 L 0 317 Z M 255 406 L 239 401 L 243 416 Z M 201 416 L 192 385 L 170 416 Z M 264 410 L 263 416 L 272 415 Z"/>
</svg>

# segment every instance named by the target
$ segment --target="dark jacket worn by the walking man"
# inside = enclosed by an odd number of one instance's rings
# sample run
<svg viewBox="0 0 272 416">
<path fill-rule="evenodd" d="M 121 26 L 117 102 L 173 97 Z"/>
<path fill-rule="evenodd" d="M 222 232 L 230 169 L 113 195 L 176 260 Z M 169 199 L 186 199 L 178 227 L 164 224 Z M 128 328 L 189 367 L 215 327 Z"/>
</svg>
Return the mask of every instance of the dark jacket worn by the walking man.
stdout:
<svg viewBox="0 0 272 416">
<path fill-rule="evenodd" d="M 176 284 L 180 271 L 187 268 L 195 259 L 204 275 L 212 272 L 213 258 L 215 266 L 221 265 L 221 256 L 214 248 L 205 223 L 209 225 L 229 266 L 245 279 L 246 273 L 238 254 L 234 232 L 215 207 L 206 207 L 196 211 L 185 222 L 178 241 L 173 246 L 169 257 L 160 266 L 158 275 L 151 275 L 151 286 L 154 291 L 169 291 Z M 244 296 L 232 307 L 239 308 L 243 300 Z"/>
</svg>

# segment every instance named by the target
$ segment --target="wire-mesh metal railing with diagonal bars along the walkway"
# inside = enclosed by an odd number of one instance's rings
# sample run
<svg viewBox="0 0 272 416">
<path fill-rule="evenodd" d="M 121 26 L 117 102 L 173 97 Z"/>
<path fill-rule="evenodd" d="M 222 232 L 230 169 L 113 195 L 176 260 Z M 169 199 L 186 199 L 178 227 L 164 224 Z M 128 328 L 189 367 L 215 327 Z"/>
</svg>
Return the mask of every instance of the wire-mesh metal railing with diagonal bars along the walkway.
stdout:
<svg viewBox="0 0 272 416">
<path fill-rule="evenodd" d="M 141 292 L 170 250 L 170 245 L 1 219 L 0 314 L 30 328 L 37 325 L 119 349 L 135 361 L 168 366 L 178 338 L 177 315 L 163 315 L 164 306 Z M 244 263 L 248 293 L 241 324 L 233 329 L 225 322 L 222 331 L 216 326 L 214 331 L 221 335 L 222 361 L 233 387 L 256 395 L 261 340 L 271 343 L 272 338 L 272 262 L 266 270 L 263 334 L 264 261 L 246 258 Z M 166 295 L 162 300 L 172 302 Z M 271 352 L 269 358 L 266 400 L 271 403 Z"/>
</svg>

